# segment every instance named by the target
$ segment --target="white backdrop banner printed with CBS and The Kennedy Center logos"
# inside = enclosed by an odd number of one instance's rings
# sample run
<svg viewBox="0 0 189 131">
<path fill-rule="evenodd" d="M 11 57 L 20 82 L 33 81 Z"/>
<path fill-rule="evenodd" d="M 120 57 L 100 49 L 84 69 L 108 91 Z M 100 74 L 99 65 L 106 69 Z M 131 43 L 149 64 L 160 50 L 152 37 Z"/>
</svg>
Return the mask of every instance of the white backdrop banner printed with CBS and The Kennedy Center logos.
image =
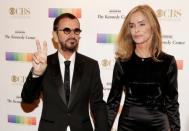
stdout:
<svg viewBox="0 0 189 131">
<path fill-rule="evenodd" d="M 98 60 L 104 100 L 111 87 L 114 44 L 123 20 L 134 6 L 149 4 L 162 27 L 163 50 L 175 56 L 178 65 L 182 131 L 189 130 L 189 8 L 178 0 L 1 0 L 0 4 L 0 131 L 37 131 L 42 101 L 21 104 L 21 90 L 31 68 L 35 39 L 52 44 L 54 18 L 64 12 L 81 22 L 79 52 Z M 124 96 L 123 96 L 124 97 Z M 115 122 L 113 130 L 116 131 Z"/>
</svg>

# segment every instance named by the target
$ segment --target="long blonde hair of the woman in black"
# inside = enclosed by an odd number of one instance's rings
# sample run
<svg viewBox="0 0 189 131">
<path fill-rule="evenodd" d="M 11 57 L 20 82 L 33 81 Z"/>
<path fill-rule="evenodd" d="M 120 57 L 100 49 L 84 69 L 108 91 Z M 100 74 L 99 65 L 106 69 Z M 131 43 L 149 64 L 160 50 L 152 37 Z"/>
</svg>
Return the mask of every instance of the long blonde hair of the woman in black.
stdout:
<svg viewBox="0 0 189 131">
<path fill-rule="evenodd" d="M 154 60 L 158 61 L 157 57 L 162 51 L 161 29 L 155 12 L 148 5 L 138 5 L 134 7 L 126 16 L 117 37 L 115 53 L 116 59 L 120 59 L 121 61 L 127 61 L 128 59 L 130 59 L 132 53 L 135 50 L 135 43 L 131 36 L 129 23 L 131 16 L 136 12 L 141 12 L 150 23 L 153 33 L 151 43 L 151 55 Z"/>
</svg>

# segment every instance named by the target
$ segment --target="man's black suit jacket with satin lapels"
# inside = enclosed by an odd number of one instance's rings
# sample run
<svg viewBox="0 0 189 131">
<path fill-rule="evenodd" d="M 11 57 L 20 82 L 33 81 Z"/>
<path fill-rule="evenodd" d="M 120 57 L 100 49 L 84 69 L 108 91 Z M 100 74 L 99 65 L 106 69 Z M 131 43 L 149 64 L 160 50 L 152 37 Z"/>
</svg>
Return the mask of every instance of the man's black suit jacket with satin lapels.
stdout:
<svg viewBox="0 0 189 131">
<path fill-rule="evenodd" d="M 66 104 L 58 53 L 47 58 L 43 76 L 33 78 L 30 71 L 23 86 L 22 101 L 32 103 L 42 93 L 43 108 L 38 131 L 93 131 L 89 107 L 94 118 L 95 131 L 106 131 L 107 113 L 103 101 L 103 86 L 97 61 L 76 53 L 70 101 Z"/>
</svg>

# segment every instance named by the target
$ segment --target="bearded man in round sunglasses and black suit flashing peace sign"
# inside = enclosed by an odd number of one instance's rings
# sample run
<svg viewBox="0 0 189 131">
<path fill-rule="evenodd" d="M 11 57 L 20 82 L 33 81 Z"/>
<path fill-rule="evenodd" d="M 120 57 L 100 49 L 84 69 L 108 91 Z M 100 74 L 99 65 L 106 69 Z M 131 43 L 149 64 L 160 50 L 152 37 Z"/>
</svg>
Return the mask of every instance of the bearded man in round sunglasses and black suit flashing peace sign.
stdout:
<svg viewBox="0 0 189 131">
<path fill-rule="evenodd" d="M 65 13 L 54 21 L 53 40 L 58 44 L 56 53 L 47 56 L 46 42 L 42 46 L 36 41 L 33 67 L 21 97 L 23 102 L 32 103 L 43 96 L 38 131 L 108 129 L 99 66 L 97 61 L 77 52 L 80 33 L 79 20 Z"/>
</svg>

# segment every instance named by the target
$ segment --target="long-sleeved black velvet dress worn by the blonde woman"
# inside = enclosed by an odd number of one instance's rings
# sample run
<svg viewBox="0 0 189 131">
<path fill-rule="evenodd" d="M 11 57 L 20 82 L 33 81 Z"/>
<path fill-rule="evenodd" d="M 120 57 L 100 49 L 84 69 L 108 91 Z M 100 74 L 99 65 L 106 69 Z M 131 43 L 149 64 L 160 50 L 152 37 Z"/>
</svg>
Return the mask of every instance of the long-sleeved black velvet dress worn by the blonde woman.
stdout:
<svg viewBox="0 0 189 131">
<path fill-rule="evenodd" d="M 122 91 L 125 101 L 118 131 L 180 131 L 175 58 L 161 53 L 160 62 L 135 53 L 116 61 L 107 100 L 109 126 L 118 113 Z"/>
</svg>

